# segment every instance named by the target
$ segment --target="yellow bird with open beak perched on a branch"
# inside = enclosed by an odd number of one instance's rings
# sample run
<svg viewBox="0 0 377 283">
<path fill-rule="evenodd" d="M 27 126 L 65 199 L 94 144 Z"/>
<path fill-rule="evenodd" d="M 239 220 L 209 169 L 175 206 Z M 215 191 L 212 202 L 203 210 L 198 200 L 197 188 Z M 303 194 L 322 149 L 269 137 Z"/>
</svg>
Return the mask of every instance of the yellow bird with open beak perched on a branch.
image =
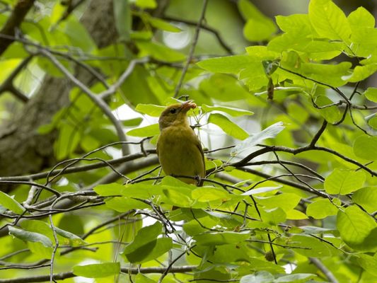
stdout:
<svg viewBox="0 0 377 283">
<path fill-rule="evenodd" d="M 204 154 L 202 144 L 187 121 L 187 111 L 197 105 L 188 100 L 169 105 L 161 113 L 158 124 L 160 136 L 157 154 L 166 175 L 199 176 L 204 178 Z M 178 178 L 187 184 L 196 184 L 192 178 Z"/>
</svg>

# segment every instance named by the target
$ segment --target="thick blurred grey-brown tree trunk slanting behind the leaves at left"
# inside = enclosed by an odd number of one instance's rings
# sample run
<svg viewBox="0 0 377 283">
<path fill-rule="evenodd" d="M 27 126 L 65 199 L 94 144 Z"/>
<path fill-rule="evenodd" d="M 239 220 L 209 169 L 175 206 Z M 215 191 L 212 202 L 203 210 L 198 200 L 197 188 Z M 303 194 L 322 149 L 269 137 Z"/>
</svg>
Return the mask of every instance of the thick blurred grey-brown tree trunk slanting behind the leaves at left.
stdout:
<svg viewBox="0 0 377 283">
<path fill-rule="evenodd" d="M 112 12 L 112 0 L 92 0 L 80 20 L 98 47 L 115 41 Z M 86 85 L 95 80 L 83 68 L 76 68 L 75 76 Z M 0 176 L 35 173 L 56 163 L 53 144 L 57 133 L 41 135 L 37 129 L 69 105 L 70 90 L 71 84 L 66 78 L 45 76 L 35 96 L 6 127 L 0 128 Z"/>
</svg>

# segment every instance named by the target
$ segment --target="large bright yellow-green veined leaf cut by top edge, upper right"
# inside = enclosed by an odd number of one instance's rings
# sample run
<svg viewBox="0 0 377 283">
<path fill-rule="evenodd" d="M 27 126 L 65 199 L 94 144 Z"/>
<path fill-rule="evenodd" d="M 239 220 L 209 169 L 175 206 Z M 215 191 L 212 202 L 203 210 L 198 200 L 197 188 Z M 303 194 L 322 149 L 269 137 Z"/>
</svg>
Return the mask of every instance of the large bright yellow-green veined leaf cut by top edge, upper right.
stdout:
<svg viewBox="0 0 377 283">
<path fill-rule="evenodd" d="M 313 28 L 321 37 L 349 42 L 349 22 L 343 11 L 332 1 L 311 0 L 308 15 Z"/>
</svg>

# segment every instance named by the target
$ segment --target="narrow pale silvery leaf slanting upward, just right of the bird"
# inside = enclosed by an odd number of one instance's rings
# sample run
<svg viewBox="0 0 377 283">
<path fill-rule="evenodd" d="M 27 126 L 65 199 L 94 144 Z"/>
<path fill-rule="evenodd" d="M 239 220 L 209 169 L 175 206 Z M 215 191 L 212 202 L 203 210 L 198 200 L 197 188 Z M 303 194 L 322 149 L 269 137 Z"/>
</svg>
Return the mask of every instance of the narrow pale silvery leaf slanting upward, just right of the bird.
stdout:
<svg viewBox="0 0 377 283">
<path fill-rule="evenodd" d="M 284 128 L 285 127 L 283 125 L 283 122 L 277 122 L 274 125 L 271 125 L 266 129 L 262 130 L 262 132 L 259 132 L 257 134 L 251 134 L 250 137 L 240 142 L 240 144 L 237 144 L 237 146 L 235 146 L 232 149 L 231 155 L 236 156 L 243 151 L 253 148 L 253 146 L 257 144 L 260 144 L 265 139 L 276 137 L 277 134 L 279 134 L 279 132 L 282 132 Z"/>
</svg>

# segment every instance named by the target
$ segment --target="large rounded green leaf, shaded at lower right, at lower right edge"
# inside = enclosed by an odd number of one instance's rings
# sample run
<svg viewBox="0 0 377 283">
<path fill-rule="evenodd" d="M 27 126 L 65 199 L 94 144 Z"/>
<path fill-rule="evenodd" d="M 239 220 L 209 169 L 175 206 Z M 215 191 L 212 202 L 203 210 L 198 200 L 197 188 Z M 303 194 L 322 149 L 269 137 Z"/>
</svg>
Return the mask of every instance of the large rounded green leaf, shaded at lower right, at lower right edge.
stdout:
<svg viewBox="0 0 377 283">
<path fill-rule="evenodd" d="M 377 247 L 376 221 L 352 205 L 337 213 L 337 229 L 344 243 L 356 250 L 373 250 Z"/>
</svg>

